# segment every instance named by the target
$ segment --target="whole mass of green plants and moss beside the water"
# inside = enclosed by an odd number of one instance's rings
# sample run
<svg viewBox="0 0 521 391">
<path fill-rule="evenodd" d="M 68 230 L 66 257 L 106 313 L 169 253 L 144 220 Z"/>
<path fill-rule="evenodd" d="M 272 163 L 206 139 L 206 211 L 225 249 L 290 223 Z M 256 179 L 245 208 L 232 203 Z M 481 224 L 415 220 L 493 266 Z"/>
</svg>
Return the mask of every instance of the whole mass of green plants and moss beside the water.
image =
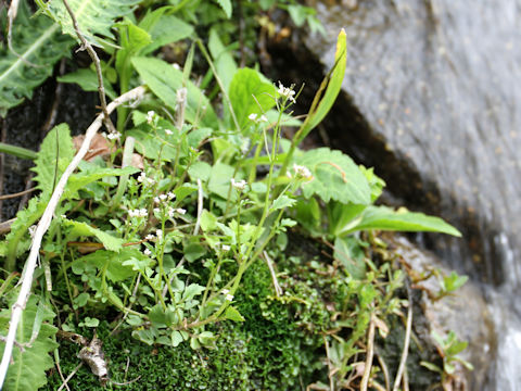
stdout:
<svg viewBox="0 0 521 391">
<path fill-rule="evenodd" d="M 94 46 L 102 60 L 61 81 L 92 91 L 101 75 L 111 99 L 140 85 L 147 92 L 117 108 L 116 126 L 103 133 L 104 159 L 82 160 L 63 188 L 5 390 L 59 388 L 52 358 L 64 376 L 73 373 L 81 348 L 96 353 L 85 348 L 94 332 L 109 379 L 84 365 L 69 381 L 74 390 L 137 378 L 125 387 L 329 390 L 389 382 L 383 366 L 366 357 L 374 330 L 385 339 L 412 302 L 399 262 L 374 231 L 460 234 L 437 217 L 374 205 L 384 182 L 341 151 L 298 148 L 340 91 L 345 34 L 308 115 L 297 118 L 294 86 L 274 84 L 254 63 L 238 64 L 231 15 L 241 13 L 241 45 L 253 48 L 255 28 L 272 24 L 267 11 L 287 10 L 295 25 L 320 30 L 313 9 L 293 1 L 239 9 L 229 0 L 69 0 L 75 27 L 64 2 L 36 3 L 37 22 L 26 26 L 30 12 L 22 1 L 13 24 L 17 54 L 0 52 L 2 115 L 69 55 L 73 38 Z M 180 50 L 183 64 L 164 60 L 165 47 Z M 290 126 L 297 130 L 287 139 Z M 35 159 L 38 195 L 0 242 L 2 336 L 16 283 L 29 273 L 26 266 L 18 274 L 39 235 L 34 225 L 74 155 L 61 124 Z M 440 294 L 462 282 L 452 276 Z"/>
</svg>

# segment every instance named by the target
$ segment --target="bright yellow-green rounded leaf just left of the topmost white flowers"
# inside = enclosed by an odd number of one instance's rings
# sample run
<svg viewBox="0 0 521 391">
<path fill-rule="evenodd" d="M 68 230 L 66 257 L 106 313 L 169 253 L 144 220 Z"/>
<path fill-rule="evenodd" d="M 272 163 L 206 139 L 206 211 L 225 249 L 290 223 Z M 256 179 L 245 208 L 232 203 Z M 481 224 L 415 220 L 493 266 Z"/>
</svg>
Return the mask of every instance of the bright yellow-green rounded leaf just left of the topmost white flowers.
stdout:
<svg viewBox="0 0 521 391">
<path fill-rule="evenodd" d="M 241 128 L 249 124 L 250 114 L 263 114 L 275 106 L 275 87 L 263 81 L 257 71 L 247 67 L 233 76 L 229 96 Z"/>
</svg>

